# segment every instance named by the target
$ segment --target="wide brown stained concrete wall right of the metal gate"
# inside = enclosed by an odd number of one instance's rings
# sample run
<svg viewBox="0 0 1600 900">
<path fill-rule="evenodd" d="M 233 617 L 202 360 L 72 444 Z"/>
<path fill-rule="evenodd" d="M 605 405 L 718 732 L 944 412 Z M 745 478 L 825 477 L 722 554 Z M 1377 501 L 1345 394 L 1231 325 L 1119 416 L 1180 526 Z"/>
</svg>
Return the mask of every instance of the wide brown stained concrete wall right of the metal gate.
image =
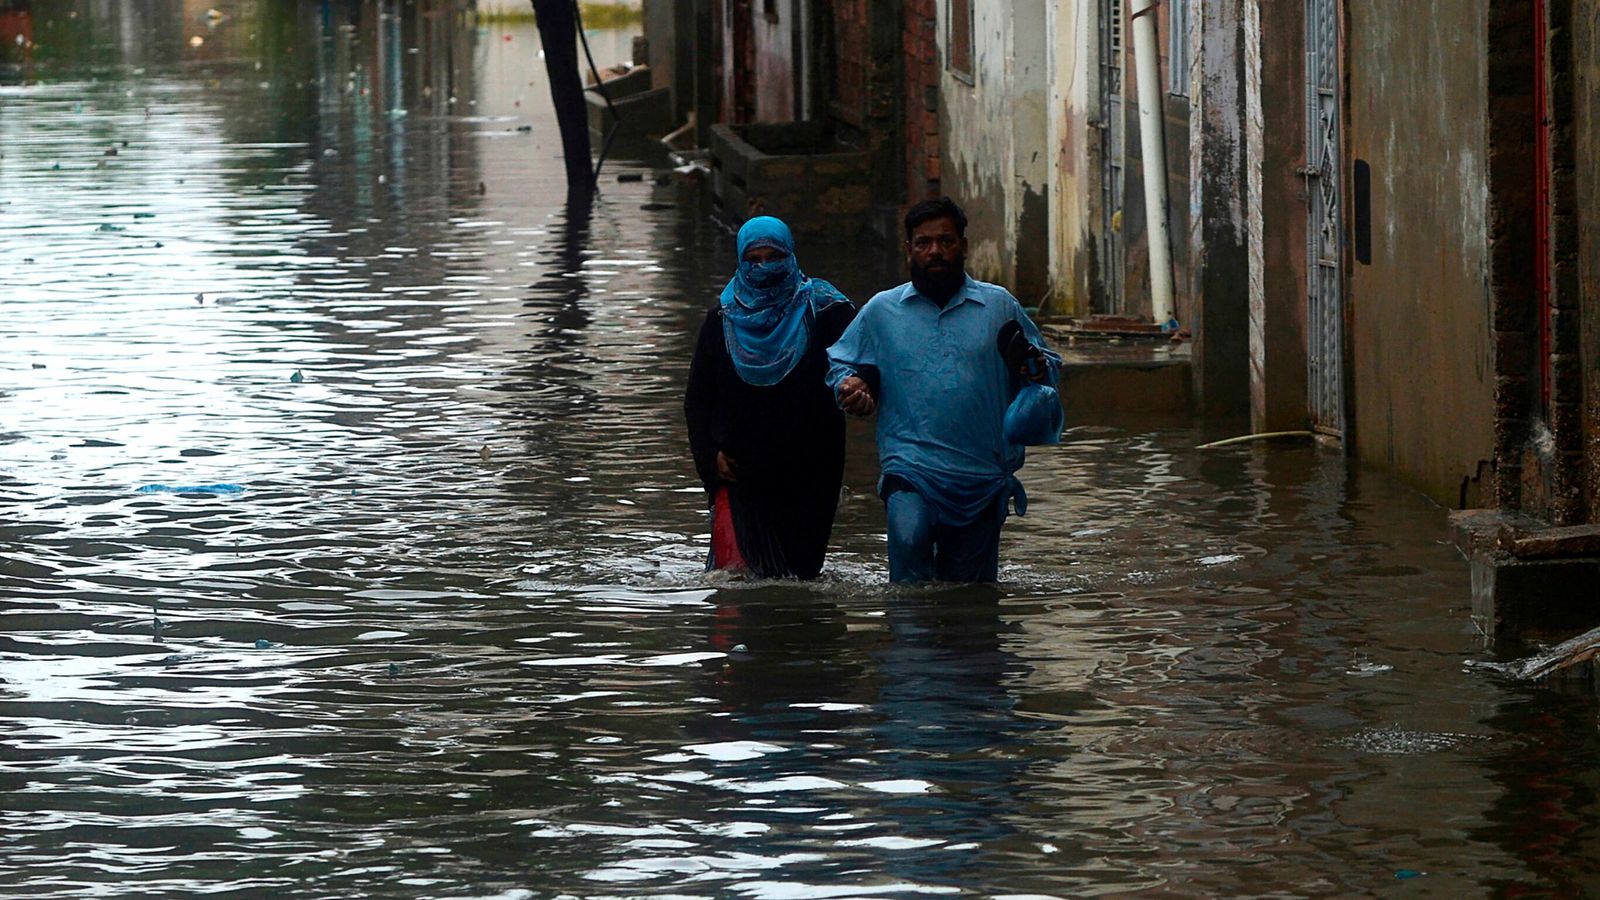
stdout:
<svg viewBox="0 0 1600 900">
<path fill-rule="evenodd" d="M 1371 266 L 1352 266 L 1347 290 L 1349 437 L 1454 506 L 1493 453 L 1488 16 L 1458 0 L 1366 0 L 1347 21 L 1346 159 L 1373 173 Z"/>
</svg>

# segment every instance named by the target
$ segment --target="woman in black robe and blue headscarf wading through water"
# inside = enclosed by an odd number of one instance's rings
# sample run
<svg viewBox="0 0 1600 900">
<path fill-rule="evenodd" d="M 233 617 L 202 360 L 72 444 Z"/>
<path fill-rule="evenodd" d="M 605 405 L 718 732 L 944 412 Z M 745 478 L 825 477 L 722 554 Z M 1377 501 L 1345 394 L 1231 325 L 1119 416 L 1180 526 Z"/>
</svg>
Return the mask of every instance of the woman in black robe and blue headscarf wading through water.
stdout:
<svg viewBox="0 0 1600 900">
<path fill-rule="evenodd" d="M 707 567 L 816 578 L 845 471 L 845 416 L 822 376 L 856 307 L 800 272 L 782 221 L 744 223 L 738 248 L 683 400 L 712 509 Z"/>
</svg>

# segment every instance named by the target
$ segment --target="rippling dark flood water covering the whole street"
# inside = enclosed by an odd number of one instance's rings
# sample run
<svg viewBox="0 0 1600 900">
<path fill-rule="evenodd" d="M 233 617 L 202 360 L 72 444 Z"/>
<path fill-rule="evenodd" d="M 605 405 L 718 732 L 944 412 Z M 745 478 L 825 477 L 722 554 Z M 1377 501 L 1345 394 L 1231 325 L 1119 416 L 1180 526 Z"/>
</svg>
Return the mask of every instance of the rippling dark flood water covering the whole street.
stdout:
<svg viewBox="0 0 1600 900">
<path fill-rule="evenodd" d="M 856 428 L 824 578 L 707 578 L 731 237 L 565 207 L 531 27 L 0 6 L 0 894 L 1600 890 L 1595 703 L 1469 668 L 1405 485 L 1075 426 L 891 591 Z"/>
</svg>

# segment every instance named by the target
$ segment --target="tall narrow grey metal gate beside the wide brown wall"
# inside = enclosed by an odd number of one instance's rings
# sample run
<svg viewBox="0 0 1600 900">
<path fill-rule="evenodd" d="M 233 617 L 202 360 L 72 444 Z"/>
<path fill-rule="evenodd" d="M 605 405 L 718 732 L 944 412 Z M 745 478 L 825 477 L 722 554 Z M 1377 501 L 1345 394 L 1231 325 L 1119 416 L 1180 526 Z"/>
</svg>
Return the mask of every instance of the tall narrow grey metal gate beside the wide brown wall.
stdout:
<svg viewBox="0 0 1600 900">
<path fill-rule="evenodd" d="M 1344 436 L 1339 0 L 1306 0 L 1306 317 L 1310 423 Z"/>
</svg>

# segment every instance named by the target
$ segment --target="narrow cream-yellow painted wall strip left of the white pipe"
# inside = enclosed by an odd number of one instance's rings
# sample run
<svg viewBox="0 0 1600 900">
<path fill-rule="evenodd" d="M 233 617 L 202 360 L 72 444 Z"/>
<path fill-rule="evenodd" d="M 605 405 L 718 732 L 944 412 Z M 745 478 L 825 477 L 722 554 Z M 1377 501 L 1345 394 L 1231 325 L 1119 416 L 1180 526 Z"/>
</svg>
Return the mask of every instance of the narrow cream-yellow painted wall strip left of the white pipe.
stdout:
<svg viewBox="0 0 1600 900">
<path fill-rule="evenodd" d="M 1101 216 L 1099 10 L 1051 0 L 1050 10 L 1050 298 L 1048 311 L 1085 315 L 1094 285 Z"/>
</svg>

